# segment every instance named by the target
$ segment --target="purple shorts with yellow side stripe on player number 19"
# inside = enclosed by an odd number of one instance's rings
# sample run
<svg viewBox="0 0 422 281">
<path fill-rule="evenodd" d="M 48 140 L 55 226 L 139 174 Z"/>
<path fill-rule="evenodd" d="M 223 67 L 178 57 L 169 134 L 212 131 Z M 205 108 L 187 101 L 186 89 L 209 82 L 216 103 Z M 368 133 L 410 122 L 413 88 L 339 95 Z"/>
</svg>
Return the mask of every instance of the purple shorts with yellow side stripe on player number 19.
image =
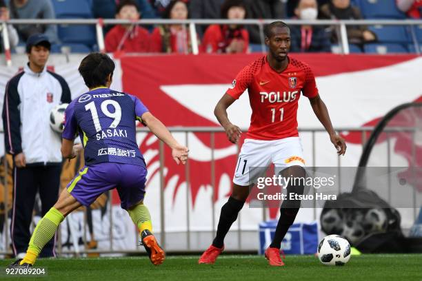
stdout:
<svg viewBox="0 0 422 281">
<path fill-rule="evenodd" d="M 91 205 L 101 194 L 117 188 L 121 207 L 128 209 L 145 196 L 147 170 L 138 165 L 99 163 L 85 166 L 68 184 L 68 191 L 84 206 Z"/>
</svg>

